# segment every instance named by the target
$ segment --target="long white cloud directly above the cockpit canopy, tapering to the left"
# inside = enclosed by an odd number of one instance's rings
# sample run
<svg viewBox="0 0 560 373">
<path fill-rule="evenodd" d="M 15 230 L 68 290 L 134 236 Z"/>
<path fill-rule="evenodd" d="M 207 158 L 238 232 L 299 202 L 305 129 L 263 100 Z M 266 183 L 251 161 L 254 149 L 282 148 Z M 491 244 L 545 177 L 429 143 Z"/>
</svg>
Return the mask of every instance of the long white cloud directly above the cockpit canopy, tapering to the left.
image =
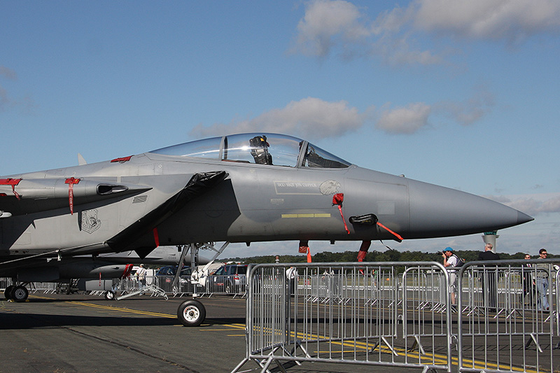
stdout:
<svg viewBox="0 0 560 373">
<path fill-rule="evenodd" d="M 276 108 L 258 117 L 215 124 L 210 127 L 197 125 L 192 134 L 211 136 L 237 132 L 276 132 L 302 136 L 307 139 L 324 139 L 353 132 L 362 127 L 365 115 L 350 107 L 346 101 L 328 102 L 314 97 L 291 101 L 284 108 Z"/>
</svg>

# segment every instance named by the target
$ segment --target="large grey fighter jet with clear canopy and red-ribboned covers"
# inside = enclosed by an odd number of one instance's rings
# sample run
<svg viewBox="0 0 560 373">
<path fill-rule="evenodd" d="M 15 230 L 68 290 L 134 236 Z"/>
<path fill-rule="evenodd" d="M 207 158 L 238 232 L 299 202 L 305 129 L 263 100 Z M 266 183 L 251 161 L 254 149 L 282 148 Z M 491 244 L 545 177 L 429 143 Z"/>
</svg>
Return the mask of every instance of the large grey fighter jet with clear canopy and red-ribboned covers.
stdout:
<svg viewBox="0 0 560 373">
<path fill-rule="evenodd" d="M 0 276 L 20 281 L 36 260 L 129 250 L 143 257 L 160 245 L 216 241 L 363 241 L 363 252 L 372 240 L 530 220 L 489 199 L 358 167 L 293 136 L 234 134 L 1 177 Z M 194 307 L 180 307 L 183 324 L 192 325 Z"/>
</svg>

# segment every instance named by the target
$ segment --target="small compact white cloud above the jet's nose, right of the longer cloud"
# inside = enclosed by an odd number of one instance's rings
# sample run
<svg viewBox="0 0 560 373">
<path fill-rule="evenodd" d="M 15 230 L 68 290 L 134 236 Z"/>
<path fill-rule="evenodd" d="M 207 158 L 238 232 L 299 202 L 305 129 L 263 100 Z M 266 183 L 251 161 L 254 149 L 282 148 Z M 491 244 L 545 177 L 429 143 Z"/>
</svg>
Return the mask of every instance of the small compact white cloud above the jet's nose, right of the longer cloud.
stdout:
<svg viewBox="0 0 560 373">
<path fill-rule="evenodd" d="M 428 125 L 431 108 L 423 103 L 385 110 L 375 124 L 377 129 L 393 134 L 412 134 Z"/>
</svg>

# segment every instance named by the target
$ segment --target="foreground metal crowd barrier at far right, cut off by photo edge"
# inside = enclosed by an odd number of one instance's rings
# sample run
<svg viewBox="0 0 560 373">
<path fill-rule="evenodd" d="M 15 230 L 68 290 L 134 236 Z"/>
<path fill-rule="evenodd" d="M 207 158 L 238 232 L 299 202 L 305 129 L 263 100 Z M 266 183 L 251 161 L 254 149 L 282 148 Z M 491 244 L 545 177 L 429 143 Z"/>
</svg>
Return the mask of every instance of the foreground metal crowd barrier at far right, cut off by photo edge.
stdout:
<svg viewBox="0 0 560 373">
<path fill-rule="evenodd" d="M 469 262 L 461 267 L 459 372 L 558 372 L 558 280 L 554 260 Z M 541 287 L 545 281 L 547 291 Z"/>
</svg>

